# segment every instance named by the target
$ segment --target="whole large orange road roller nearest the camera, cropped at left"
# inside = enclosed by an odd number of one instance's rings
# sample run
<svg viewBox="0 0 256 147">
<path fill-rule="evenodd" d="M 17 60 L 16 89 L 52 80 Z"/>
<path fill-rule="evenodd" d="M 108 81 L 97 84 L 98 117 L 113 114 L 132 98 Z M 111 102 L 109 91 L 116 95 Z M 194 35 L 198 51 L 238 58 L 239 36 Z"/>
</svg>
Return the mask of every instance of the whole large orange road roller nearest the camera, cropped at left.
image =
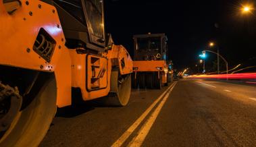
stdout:
<svg viewBox="0 0 256 147">
<path fill-rule="evenodd" d="M 132 59 L 102 0 L 0 0 L 0 146 L 39 146 L 57 107 L 125 106 Z"/>
</svg>

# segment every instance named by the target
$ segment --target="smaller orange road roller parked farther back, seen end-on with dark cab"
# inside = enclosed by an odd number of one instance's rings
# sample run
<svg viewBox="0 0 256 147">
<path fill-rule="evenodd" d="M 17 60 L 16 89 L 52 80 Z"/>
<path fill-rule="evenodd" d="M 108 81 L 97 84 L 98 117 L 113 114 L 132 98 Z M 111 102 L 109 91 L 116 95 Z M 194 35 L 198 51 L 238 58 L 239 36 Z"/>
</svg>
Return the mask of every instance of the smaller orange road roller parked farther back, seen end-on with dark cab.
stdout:
<svg viewBox="0 0 256 147">
<path fill-rule="evenodd" d="M 168 86 L 172 71 L 168 64 L 168 44 L 165 34 L 134 35 L 133 88 Z"/>
</svg>

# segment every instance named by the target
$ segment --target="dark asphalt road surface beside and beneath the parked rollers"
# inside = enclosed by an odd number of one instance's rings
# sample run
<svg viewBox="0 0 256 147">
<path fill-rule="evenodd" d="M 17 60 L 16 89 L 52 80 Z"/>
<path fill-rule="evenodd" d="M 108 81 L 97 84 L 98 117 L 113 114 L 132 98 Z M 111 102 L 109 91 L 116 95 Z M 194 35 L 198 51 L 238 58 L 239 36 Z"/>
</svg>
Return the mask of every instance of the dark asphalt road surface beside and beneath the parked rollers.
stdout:
<svg viewBox="0 0 256 147">
<path fill-rule="evenodd" d="M 40 146 L 256 146 L 256 86 L 180 80 L 127 107 L 85 102 L 60 109 Z"/>
</svg>

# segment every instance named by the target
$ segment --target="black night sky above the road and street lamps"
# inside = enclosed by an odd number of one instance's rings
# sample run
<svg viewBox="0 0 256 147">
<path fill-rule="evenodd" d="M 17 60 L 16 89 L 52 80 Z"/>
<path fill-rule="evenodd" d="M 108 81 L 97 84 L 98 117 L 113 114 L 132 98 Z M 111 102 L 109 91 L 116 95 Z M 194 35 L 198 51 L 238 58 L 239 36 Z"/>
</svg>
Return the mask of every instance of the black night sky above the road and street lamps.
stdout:
<svg viewBox="0 0 256 147">
<path fill-rule="evenodd" d="M 232 67 L 256 57 L 256 11 L 242 15 L 242 3 L 248 1 L 109 0 L 105 1 L 105 26 L 114 42 L 131 55 L 134 34 L 165 33 L 169 59 L 176 68 L 197 64 L 209 41 L 216 42 Z M 214 59 L 209 55 L 206 62 Z"/>
</svg>

